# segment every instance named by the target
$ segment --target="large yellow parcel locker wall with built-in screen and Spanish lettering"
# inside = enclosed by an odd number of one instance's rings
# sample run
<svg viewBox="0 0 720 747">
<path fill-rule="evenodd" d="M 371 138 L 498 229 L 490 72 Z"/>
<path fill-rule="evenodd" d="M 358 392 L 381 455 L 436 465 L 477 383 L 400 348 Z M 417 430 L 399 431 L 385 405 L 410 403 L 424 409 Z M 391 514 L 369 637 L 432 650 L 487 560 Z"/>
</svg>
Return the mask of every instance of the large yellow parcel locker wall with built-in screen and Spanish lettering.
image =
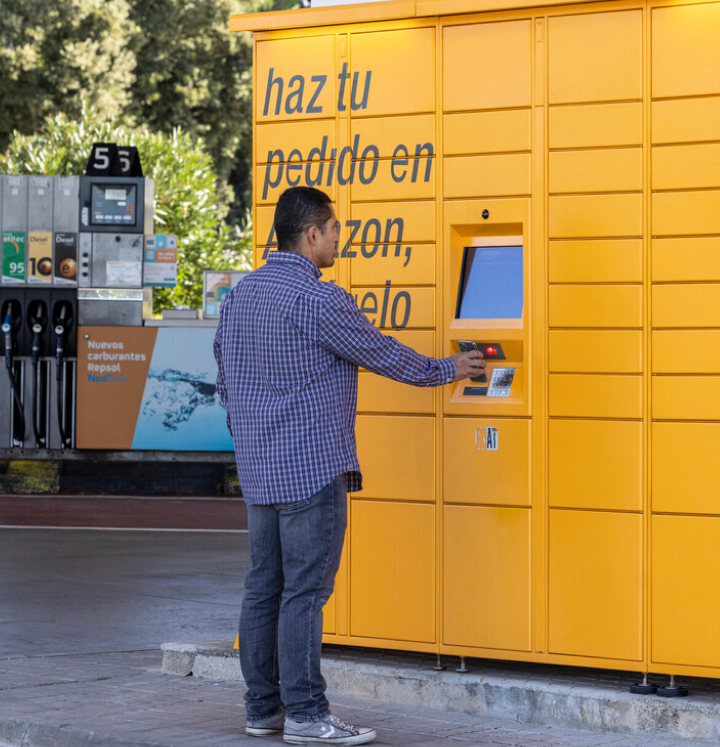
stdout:
<svg viewBox="0 0 720 747">
<path fill-rule="evenodd" d="M 720 676 L 720 1 L 389 0 L 255 34 L 255 261 L 484 380 L 359 373 L 327 641 Z"/>
</svg>

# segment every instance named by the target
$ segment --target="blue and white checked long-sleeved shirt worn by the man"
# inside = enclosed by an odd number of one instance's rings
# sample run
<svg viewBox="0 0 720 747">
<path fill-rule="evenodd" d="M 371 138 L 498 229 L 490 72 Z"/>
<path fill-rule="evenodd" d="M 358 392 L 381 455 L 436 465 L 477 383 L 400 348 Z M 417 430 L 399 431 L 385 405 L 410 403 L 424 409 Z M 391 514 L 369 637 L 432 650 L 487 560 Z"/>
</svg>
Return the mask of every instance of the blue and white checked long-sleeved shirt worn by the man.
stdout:
<svg viewBox="0 0 720 747">
<path fill-rule="evenodd" d="M 370 324 L 314 262 L 274 251 L 220 308 L 217 390 L 249 504 L 291 503 L 340 474 L 362 489 L 355 446 L 357 371 L 415 386 L 455 378 L 455 362 L 416 353 Z"/>
</svg>

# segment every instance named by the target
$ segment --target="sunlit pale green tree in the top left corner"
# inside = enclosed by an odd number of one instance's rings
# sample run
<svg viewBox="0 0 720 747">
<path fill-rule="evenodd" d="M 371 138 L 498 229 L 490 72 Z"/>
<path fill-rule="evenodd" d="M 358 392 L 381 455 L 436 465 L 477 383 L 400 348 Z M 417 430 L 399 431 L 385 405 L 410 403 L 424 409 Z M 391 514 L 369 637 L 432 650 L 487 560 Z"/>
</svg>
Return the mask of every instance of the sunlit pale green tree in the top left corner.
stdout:
<svg viewBox="0 0 720 747">
<path fill-rule="evenodd" d="M 76 117 L 82 99 L 101 117 L 128 104 L 141 30 L 127 0 L 0 2 L 0 151 L 13 131 L 37 132 L 59 111 Z"/>
</svg>

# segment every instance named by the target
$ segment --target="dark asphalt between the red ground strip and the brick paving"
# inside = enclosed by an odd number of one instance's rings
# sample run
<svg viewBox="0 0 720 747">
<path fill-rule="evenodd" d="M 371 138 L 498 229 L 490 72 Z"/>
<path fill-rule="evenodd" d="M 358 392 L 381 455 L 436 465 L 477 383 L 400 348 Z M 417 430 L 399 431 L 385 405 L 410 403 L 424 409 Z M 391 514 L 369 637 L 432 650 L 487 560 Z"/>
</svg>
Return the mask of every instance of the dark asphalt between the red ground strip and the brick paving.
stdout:
<svg viewBox="0 0 720 747">
<path fill-rule="evenodd" d="M 244 532 L 0 529 L 0 655 L 231 638 Z"/>
</svg>

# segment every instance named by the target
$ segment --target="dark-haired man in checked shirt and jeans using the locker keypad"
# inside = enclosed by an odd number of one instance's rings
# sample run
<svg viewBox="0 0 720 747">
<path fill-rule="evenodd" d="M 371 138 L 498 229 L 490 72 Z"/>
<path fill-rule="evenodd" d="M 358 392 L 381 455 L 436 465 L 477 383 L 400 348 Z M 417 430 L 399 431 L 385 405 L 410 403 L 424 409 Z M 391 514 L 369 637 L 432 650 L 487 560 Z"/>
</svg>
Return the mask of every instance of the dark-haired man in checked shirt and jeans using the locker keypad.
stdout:
<svg viewBox="0 0 720 747">
<path fill-rule="evenodd" d="M 359 366 L 415 386 L 479 376 L 477 351 L 426 358 L 373 327 L 345 290 L 320 282 L 339 223 L 317 189 L 285 191 L 278 251 L 225 299 L 218 393 L 248 510 L 251 569 L 240 616 L 246 733 L 291 744 L 365 744 L 375 732 L 330 713 L 320 673 L 322 608 L 333 590 L 355 448 Z"/>
</svg>

